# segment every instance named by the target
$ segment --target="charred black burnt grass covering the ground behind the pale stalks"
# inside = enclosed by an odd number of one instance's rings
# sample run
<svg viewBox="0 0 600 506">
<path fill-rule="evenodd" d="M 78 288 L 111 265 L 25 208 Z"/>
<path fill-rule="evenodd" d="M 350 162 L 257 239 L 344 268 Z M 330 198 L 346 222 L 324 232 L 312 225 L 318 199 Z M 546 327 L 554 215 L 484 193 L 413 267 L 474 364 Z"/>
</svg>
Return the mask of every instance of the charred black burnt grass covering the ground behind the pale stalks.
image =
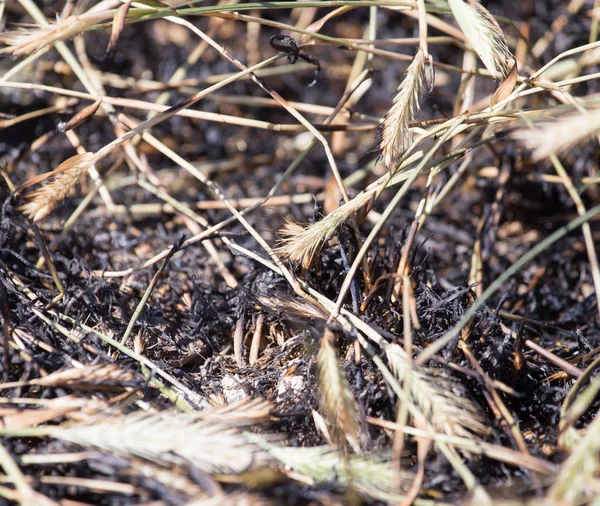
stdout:
<svg viewBox="0 0 600 506">
<path fill-rule="evenodd" d="M 60 11 L 60 4 L 45 2 L 47 16 L 51 18 L 54 12 Z M 537 40 L 550 29 L 557 14 L 563 12 L 562 2 L 541 4 L 533 1 L 488 2 L 487 7 L 494 14 L 508 17 L 517 24 L 531 20 L 530 38 Z M 288 14 L 285 11 L 267 11 L 264 15 L 287 22 Z M 16 6 L 9 9 L 9 22 L 26 19 Z M 368 9 L 357 9 L 341 19 L 343 21 L 331 23 L 328 27 L 330 33 L 361 37 L 368 23 Z M 380 39 L 413 37 L 417 34 L 416 23 L 400 14 L 381 10 L 378 21 Z M 207 27 L 207 19 L 200 19 L 198 23 L 203 29 Z M 97 30 L 87 33 L 85 41 L 92 65 L 107 74 L 115 73 L 134 79 L 152 76 L 156 81 L 166 82 L 195 44 L 191 36 L 180 44 L 165 42 L 164 37 L 171 36 L 164 35 L 169 33 L 167 26 L 164 22 L 129 26 L 122 33 L 119 46 L 111 58 L 103 56 L 109 32 Z M 246 25 L 237 23 L 226 26 L 228 28 L 220 32 L 217 40 L 244 61 Z M 159 33 L 161 30 L 162 34 Z M 272 28 L 262 28 L 258 48 L 261 59 L 273 54 L 268 39 L 275 33 L 278 32 Z M 587 43 L 588 33 L 587 18 L 582 15 L 571 17 L 540 57 L 540 65 L 561 51 Z M 437 35 L 435 30 L 433 35 Z M 73 47 L 72 41 L 68 44 Z M 336 65 L 350 65 L 353 53 L 322 45 L 309 51 L 319 58 L 323 68 L 314 87 L 307 86 L 313 76 L 310 69 L 265 80 L 288 100 L 335 106 L 346 77 L 329 69 Z M 453 46 L 432 45 L 431 51 L 436 61 L 461 65 L 463 52 Z M 36 63 L 35 72 L 28 78 L 46 85 L 81 89 L 70 72 L 58 71 L 61 68 L 59 62 L 58 54 L 50 51 Z M 14 63 L 15 60 L 6 56 L 0 60 L 4 70 Z M 376 57 L 373 69 L 373 85 L 354 106 L 354 110 L 382 116 L 405 65 Z M 202 80 L 213 74 L 233 71 L 231 64 L 208 50 L 200 62 L 189 70 L 187 77 Z M 433 119 L 450 114 L 457 85 L 458 77 L 449 74 L 448 84 L 434 90 L 426 98 L 421 116 Z M 139 91 L 135 87 L 121 89 L 110 83 L 105 83 L 105 86 L 110 96 L 148 101 L 158 97 L 158 92 Z M 589 81 L 577 85 L 573 94 L 594 93 L 596 88 L 596 82 Z M 250 81 L 235 82 L 219 94 L 264 96 Z M 174 104 L 185 96 L 185 93 L 173 90 L 169 103 Z M 552 100 L 549 95 L 544 97 Z M 0 85 L 0 111 L 6 115 L 19 116 L 49 107 L 55 100 L 56 97 L 49 93 L 2 88 Z M 0 168 L 8 171 L 13 184 L 19 185 L 34 175 L 53 170 L 75 154 L 65 135 L 57 132 L 57 125 L 68 120 L 79 108 L 77 105 L 63 114 L 48 114 L 0 131 Z M 292 122 L 290 116 L 279 108 L 221 103 L 212 99 L 203 100 L 195 108 L 273 123 Z M 140 120 L 145 117 L 144 111 L 133 111 L 131 114 Z M 93 118 L 76 131 L 89 151 L 100 149 L 114 138 L 106 116 Z M 210 173 L 211 179 L 230 199 L 263 197 L 293 159 L 289 146 L 296 135 L 181 117 L 158 125 L 153 133 L 194 163 L 221 162 L 233 158 L 239 160 L 233 169 Z M 33 141 L 44 134 L 49 135 L 48 141 L 31 152 Z M 345 133 L 343 141 L 343 149 L 335 153 L 343 176 L 377 157 L 375 130 Z M 176 200 L 188 203 L 192 208 L 198 201 L 216 200 L 206 186 L 182 170 L 172 168 L 172 162 L 148 144 L 140 144 L 139 151 Z M 262 158 L 256 161 L 257 157 Z M 598 143 L 591 142 L 565 155 L 563 163 L 570 176 L 580 180 L 594 173 L 599 157 Z M 98 167 L 100 173 L 106 172 L 113 161 L 104 160 Z M 461 184 L 428 218 L 410 252 L 410 279 L 420 323 L 420 328 L 413 331 L 415 353 L 451 329 L 476 297 L 476 287 L 469 285 L 468 279 L 473 247 L 477 241 L 481 245 L 483 259 L 483 284 L 488 286 L 533 245 L 577 215 L 564 187 L 550 184 L 541 177 L 542 174 L 553 173 L 550 164 L 533 162 L 530 153 L 506 136 L 500 135 L 490 146 L 478 148 L 471 165 Z M 508 177 L 488 176 L 482 171 L 485 167 L 497 167 L 500 173 Z M 448 180 L 454 170 L 456 167 L 451 166 L 440 175 L 440 185 Z M 323 150 L 317 148 L 279 193 L 316 195 L 324 190 L 329 175 Z M 123 336 L 160 263 L 124 277 L 105 277 L 102 272 L 138 266 L 154 254 L 177 244 L 181 238 L 193 235 L 176 213 L 128 211 L 135 205 L 160 202 L 135 183 L 136 177 L 138 175 L 125 164 L 110 176 L 111 196 L 117 205 L 125 209 L 122 212 L 111 214 L 96 196 L 74 226 L 61 237 L 65 220 L 92 188 L 93 184 L 88 181 L 80 185 L 50 217 L 37 225 L 40 236 L 50 248 L 52 261 L 65 290 L 64 297 L 54 309 L 117 340 Z M 127 183 L 127 180 L 130 182 Z M 374 176 L 369 182 L 372 180 Z M 424 183 L 425 180 L 417 181 L 371 248 L 372 279 L 395 272 L 416 206 L 423 195 Z M 375 204 L 375 211 L 382 212 L 385 209 L 394 192 L 388 193 L 384 193 Z M 592 189 L 585 192 L 583 198 L 586 205 L 591 207 L 598 203 L 600 197 L 597 190 Z M 3 357 L 8 353 L 10 363 L 8 370 L 3 368 L 5 381 L 24 382 L 44 377 L 71 367 L 72 361 L 81 364 L 117 363 L 132 373 L 134 379 L 125 386 L 135 391 L 136 399 L 158 409 L 171 407 L 171 403 L 144 380 L 137 361 L 115 354 L 113 349 L 92 333 L 78 334 L 80 341 L 76 343 L 42 322 L 34 313 L 39 302 L 49 304 L 58 292 L 48 266 L 43 264 L 40 267 L 38 264 L 41 246 L 34 225 L 18 211 L 21 201 L 11 194 L 4 179 L 0 181 L 0 201 L 2 320 L 8 334 L 14 329 L 21 331 L 18 340 L 8 336 L 11 346 L 3 351 Z M 322 212 L 320 203 L 313 202 L 279 207 L 267 205 L 253 212 L 249 220 L 270 244 L 275 245 L 276 231 L 285 218 L 307 222 L 321 219 Z M 201 210 L 198 213 L 212 224 L 230 216 L 223 209 Z M 363 237 L 366 237 L 371 226 L 368 222 L 361 225 Z M 591 226 L 594 240 L 600 244 L 600 223 L 597 219 L 592 220 Z M 234 222 L 223 233 L 235 243 L 259 256 L 265 256 L 240 224 Z M 296 275 L 308 285 L 333 300 L 339 293 L 346 272 L 340 244 L 346 246 L 346 253 L 352 255 L 356 252 L 354 236 L 348 228 L 341 230 L 339 239 L 327 244 L 309 271 L 295 270 Z M 242 395 L 261 397 L 274 403 L 273 421 L 266 430 L 285 434 L 286 443 L 292 446 L 323 444 L 312 411 L 319 410 L 316 354 L 324 323 L 318 319 L 297 317 L 282 312 L 276 305 L 270 307 L 265 304 L 265 297 L 293 300 L 297 296 L 285 280 L 256 260 L 228 248 L 218 239 L 215 244 L 224 265 L 237 280 L 237 287 L 227 285 L 202 245 L 195 244 L 183 249 L 170 259 L 159 274 L 156 288 L 137 318 L 128 345 L 132 346 L 133 338 L 137 336 L 144 343 L 143 354 L 147 358 L 206 399 L 227 399 L 223 379 L 234 376 L 239 381 Z M 357 276 L 357 279 L 361 283 L 362 276 Z M 16 280 L 19 282 L 16 283 Z M 390 342 L 402 343 L 402 302 L 391 302 L 388 286 L 388 283 L 383 284 L 360 317 Z M 359 288 L 364 295 L 363 287 Z M 36 300 L 28 296 L 28 290 L 36 295 Z M 352 310 L 350 298 L 347 299 L 346 308 Z M 258 360 L 250 366 L 248 350 L 259 314 L 264 318 L 266 338 L 263 337 L 264 345 Z M 513 317 L 509 318 L 510 315 Z M 240 321 L 245 336 L 245 357 L 241 366 L 236 363 L 233 354 L 233 336 Z M 360 363 L 354 360 L 355 338 L 351 333 L 342 333 L 337 347 L 342 369 L 358 400 L 359 410 L 363 416 L 394 421 L 397 399 L 368 355 L 363 354 Z M 454 375 L 464 387 L 461 395 L 470 397 L 481 407 L 487 424 L 493 429 L 490 442 L 516 448 L 510 431 L 506 430 L 505 421 L 490 410 L 486 387 L 473 369 L 472 362 L 458 347 L 458 338 L 446 346 L 430 365 Z M 597 358 L 597 352 L 600 351 L 600 321 L 589 259 L 580 229 L 552 245 L 502 286 L 477 312 L 469 326 L 467 338 L 473 357 L 481 369 L 490 378 L 513 389 L 512 394 L 500 395 L 518 423 L 528 451 L 559 464 L 565 455 L 556 448 L 558 417 L 574 378 L 559 374 L 561 369 L 557 365 L 526 347 L 524 343 L 528 340 L 581 371 Z M 300 393 L 281 393 L 281 379 L 286 376 L 301 376 L 304 379 L 304 388 Z M 109 401 L 115 395 L 105 384 L 99 384 L 97 389 L 91 391 L 65 386 L 19 386 L 4 389 L 2 401 L 7 408 L 24 409 L 26 406 L 19 399 L 75 396 Z M 600 403 L 594 401 L 578 426 L 587 424 L 591 413 L 595 413 L 599 407 Z M 62 419 L 58 417 L 51 423 L 60 421 Z M 390 433 L 375 425 L 366 425 L 366 433 L 366 451 L 377 453 L 389 449 Z M 6 438 L 3 444 L 16 459 L 30 453 L 72 451 L 71 446 L 53 440 Z M 414 455 L 409 460 L 413 466 L 416 466 L 415 448 L 413 443 L 407 443 L 406 451 Z M 502 464 L 487 457 L 474 458 L 467 464 L 492 494 L 518 498 L 536 493 L 536 481 L 527 469 Z M 36 490 L 55 500 L 70 499 L 89 504 L 145 504 L 160 500 L 165 504 L 182 504 L 185 497 L 185 494 L 167 483 L 137 474 L 134 462 L 101 453 L 86 462 L 27 466 L 23 472 L 31 477 Z M 172 472 L 185 475 L 186 479 L 198 480 L 197 476 L 194 478 L 194 474 L 186 470 Z M 52 484 L 45 482 L 42 479 L 44 476 L 109 479 L 134 485 L 135 493 L 102 493 L 83 487 Z M 542 487 L 548 485 L 542 482 Z M 241 483 L 222 483 L 221 486 L 226 491 L 248 490 Z M 507 490 L 508 487 L 512 488 Z M 452 466 L 443 456 L 435 453 L 428 457 L 422 490 L 426 491 L 422 494 L 424 498 L 438 498 L 450 503 L 466 497 L 464 485 Z M 345 500 L 343 493 L 335 487 L 309 486 L 284 477 L 268 488 L 255 492 L 265 500 L 286 505 L 334 504 L 334 501 Z"/>
</svg>

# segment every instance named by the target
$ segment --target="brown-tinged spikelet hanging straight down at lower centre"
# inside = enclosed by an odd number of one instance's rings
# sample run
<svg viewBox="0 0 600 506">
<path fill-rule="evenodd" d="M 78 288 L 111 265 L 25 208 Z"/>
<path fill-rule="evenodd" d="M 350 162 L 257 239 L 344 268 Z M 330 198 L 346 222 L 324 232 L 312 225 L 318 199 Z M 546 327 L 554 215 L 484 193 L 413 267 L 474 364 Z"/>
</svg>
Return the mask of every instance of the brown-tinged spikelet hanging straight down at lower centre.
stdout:
<svg viewBox="0 0 600 506">
<path fill-rule="evenodd" d="M 334 341 L 334 333 L 326 328 L 317 359 L 321 409 L 325 412 L 333 441 L 341 448 L 347 441 L 358 453 L 358 412 L 348 380 L 340 369 Z"/>
</svg>

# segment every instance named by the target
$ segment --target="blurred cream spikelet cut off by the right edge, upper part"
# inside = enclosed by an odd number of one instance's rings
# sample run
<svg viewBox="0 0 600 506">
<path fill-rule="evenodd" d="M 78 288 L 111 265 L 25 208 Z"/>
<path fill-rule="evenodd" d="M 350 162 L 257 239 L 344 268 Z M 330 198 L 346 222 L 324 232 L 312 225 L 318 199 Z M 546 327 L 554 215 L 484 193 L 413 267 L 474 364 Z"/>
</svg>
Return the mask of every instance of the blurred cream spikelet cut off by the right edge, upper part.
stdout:
<svg viewBox="0 0 600 506">
<path fill-rule="evenodd" d="M 600 109 L 589 114 L 568 114 L 555 121 L 537 123 L 534 128 L 523 128 L 513 138 L 533 150 L 533 158 L 541 160 L 555 153 L 563 153 L 600 131 Z"/>
</svg>

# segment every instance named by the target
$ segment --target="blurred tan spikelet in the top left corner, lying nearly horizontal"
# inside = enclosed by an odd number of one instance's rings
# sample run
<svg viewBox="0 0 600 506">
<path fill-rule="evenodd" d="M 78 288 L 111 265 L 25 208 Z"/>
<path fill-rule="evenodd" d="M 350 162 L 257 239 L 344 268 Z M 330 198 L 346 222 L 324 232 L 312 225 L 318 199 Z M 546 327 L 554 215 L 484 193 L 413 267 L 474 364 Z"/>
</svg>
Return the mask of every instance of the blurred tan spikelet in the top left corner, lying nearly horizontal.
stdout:
<svg viewBox="0 0 600 506">
<path fill-rule="evenodd" d="M 47 26 L 34 25 L 4 32 L 0 35 L 0 42 L 8 47 L 2 49 L 0 53 L 15 56 L 28 55 L 54 42 L 74 37 L 96 23 L 111 19 L 112 16 L 109 11 L 86 13 L 81 16 L 68 16 Z"/>
</svg>

